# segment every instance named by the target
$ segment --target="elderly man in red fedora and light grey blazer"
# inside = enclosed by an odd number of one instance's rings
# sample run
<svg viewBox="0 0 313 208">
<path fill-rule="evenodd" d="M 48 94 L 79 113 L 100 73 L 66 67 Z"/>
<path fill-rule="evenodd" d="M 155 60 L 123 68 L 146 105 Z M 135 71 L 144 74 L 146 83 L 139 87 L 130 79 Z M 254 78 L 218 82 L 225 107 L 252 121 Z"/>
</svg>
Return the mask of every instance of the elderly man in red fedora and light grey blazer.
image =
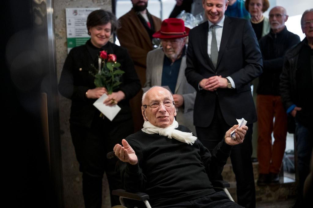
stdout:
<svg viewBox="0 0 313 208">
<path fill-rule="evenodd" d="M 161 39 L 162 48 L 150 51 L 147 55 L 145 87 L 168 86 L 173 93 L 177 122 L 195 134 L 193 105 L 196 91 L 185 77 L 189 30 L 182 19 L 163 20 L 161 29 L 152 35 Z"/>
</svg>

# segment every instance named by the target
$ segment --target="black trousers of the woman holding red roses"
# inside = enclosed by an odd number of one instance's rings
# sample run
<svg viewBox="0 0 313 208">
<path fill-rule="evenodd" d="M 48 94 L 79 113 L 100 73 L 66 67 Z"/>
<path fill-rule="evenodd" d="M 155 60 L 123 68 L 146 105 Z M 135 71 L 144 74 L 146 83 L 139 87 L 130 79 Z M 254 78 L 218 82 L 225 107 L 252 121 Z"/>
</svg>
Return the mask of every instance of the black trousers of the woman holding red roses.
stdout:
<svg viewBox="0 0 313 208">
<path fill-rule="evenodd" d="M 83 196 L 86 208 L 100 208 L 102 204 L 102 178 L 104 172 L 108 178 L 110 193 L 123 188 L 119 169 L 116 169 L 117 158 L 107 159 L 106 154 L 113 151 L 133 133 L 132 119 L 123 122 L 111 122 L 108 119 L 95 119 L 91 128 L 70 125 L 76 158 L 83 173 Z M 111 205 L 120 205 L 117 196 L 111 195 Z"/>
</svg>

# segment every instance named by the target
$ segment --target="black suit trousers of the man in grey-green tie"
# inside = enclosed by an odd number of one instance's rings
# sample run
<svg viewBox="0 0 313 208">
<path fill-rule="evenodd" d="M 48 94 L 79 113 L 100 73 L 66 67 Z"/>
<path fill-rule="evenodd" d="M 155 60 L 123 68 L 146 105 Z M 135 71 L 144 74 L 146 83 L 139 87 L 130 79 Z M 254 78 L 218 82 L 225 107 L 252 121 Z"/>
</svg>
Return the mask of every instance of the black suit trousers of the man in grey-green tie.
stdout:
<svg viewBox="0 0 313 208">
<path fill-rule="evenodd" d="M 249 129 L 244 137 L 244 142 L 233 146 L 230 159 L 236 176 L 238 204 L 246 208 L 250 208 L 255 207 L 255 186 L 251 162 L 253 124 L 249 124 L 247 126 Z M 228 131 L 231 127 L 232 126 L 229 126 L 224 120 L 217 100 L 213 121 L 210 126 L 196 126 L 196 131 L 198 139 L 209 149 L 210 152 L 212 152 L 214 147 L 223 139 L 226 131 Z"/>
</svg>

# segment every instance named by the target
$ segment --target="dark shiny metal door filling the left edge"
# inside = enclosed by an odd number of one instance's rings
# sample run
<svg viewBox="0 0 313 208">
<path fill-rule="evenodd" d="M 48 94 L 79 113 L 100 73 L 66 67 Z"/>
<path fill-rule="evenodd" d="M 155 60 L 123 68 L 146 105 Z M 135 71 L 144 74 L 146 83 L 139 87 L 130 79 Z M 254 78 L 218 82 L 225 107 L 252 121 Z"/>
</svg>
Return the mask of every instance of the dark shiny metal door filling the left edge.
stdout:
<svg viewBox="0 0 313 208">
<path fill-rule="evenodd" d="M 52 0 L 1 4 L 3 204 L 64 207 Z"/>
</svg>

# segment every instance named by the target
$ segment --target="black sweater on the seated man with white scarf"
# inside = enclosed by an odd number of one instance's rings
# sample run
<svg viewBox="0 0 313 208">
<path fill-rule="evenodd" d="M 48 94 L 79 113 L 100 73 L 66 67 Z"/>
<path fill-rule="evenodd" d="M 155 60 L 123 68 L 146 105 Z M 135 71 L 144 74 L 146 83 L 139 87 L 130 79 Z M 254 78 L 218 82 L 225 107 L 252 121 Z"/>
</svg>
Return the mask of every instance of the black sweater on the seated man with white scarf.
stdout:
<svg viewBox="0 0 313 208">
<path fill-rule="evenodd" d="M 190 132 L 184 126 L 177 130 Z M 231 146 L 224 141 L 213 150 L 197 140 L 191 146 L 158 134 L 138 131 L 126 138 L 136 152 L 136 165 L 122 166 L 122 181 L 127 191 L 145 192 L 151 206 L 171 205 L 214 193 L 209 178 L 223 171 Z"/>
</svg>

